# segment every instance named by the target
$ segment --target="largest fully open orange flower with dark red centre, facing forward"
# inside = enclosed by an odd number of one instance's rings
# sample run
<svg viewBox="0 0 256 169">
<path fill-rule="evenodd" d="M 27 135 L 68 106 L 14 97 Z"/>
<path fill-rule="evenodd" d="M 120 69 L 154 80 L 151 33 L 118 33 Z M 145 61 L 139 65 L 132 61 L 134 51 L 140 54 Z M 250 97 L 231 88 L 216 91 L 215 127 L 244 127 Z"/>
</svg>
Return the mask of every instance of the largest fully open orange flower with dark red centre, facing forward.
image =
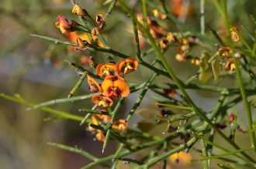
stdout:
<svg viewBox="0 0 256 169">
<path fill-rule="evenodd" d="M 122 77 L 107 76 L 102 82 L 102 94 L 111 99 L 126 97 L 130 94 L 130 88 Z"/>
</svg>

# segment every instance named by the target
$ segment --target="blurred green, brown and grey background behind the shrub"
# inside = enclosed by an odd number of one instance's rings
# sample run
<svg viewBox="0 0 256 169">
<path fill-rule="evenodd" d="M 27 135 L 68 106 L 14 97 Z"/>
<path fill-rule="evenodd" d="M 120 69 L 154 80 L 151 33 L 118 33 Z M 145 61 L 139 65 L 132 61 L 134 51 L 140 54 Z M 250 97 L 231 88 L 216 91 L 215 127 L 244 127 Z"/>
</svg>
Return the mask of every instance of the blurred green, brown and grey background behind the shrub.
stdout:
<svg viewBox="0 0 256 169">
<path fill-rule="evenodd" d="M 104 1 L 100 0 L 78 2 L 93 16 L 105 15 L 108 8 L 108 5 L 103 6 Z M 136 2 L 136 0 L 129 1 L 130 5 Z M 192 28 L 199 30 L 199 0 L 170 0 L 168 8 L 172 12 L 175 12 L 175 3 L 180 3 L 184 10 L 177 17 L 187 22 Z M 206 26 L 210 25 L 221 34 L 224 28 L 220 15 L 211 1 L 206 1 L 206 4 Z M 249 15 L 256 16 L 255 7 L 256 1 L 254 0 L 229 0 L 228 11 L 233 25 L 242 23 L 247 29 L 252 29 L 253 25 Z M 67 97 L 79 77 L 64 60 L 81 63 L 83 55 L 75 53 L 67 46 L 36 39 L 29 34 L 65 39 L 54 23 L 57 22 L 57 15 L 60 14 L 68 19 L 76 19 L 71 14 L 71 8 L 71 2 L 68 0 L 2 0 L 0 5 L 0 93 L 9 95 L 19 93 L 31 103 Z M 140 5 L 133 8 L 134 12 L 141 11 Z M 179 31 L 173 23 L 158 22 L 164 29 L 172 32 Z M 135 56 L 135 46 L 130 33 L 132 31 L 130 19 L 123 14 L 120 8 L 116 8 L 111 17 L 106 19 L 106 23 L 104 36 L 109 45 L 117 51 Z M 208 29 L 206 31 L 209 33 Z M 212 35 L 209 34 L 209 36 Z M 201 49 L 195 48 L 192 52 L 196 56 L 199 55 Z M 195 75 L 199 68 L 189 63 L 177 63 L 175 53 L 177 53 L 176 47 L 171 47 L 166 53 L 175 73 L 181 79 L 188 79 L 189 76 Z M 107 62 L 108 58 L 104 53 L 91 53 L 90 56 L 94 57 L 96 63 Z M 148 56 L 147 62 L 152 62 L 153 59 L 154 57 Z M 141 83 L 150 75 L 150 70 L 140 67 L 136 73 L 128 75 L 127 80 L 130 83 Z M 168 83 L 168 79 L 158 78 L 155 83 L 157 82 Z M 232 76 L 222 81 L 222 84 L 216 85 L 236 86 Z M 86 93 L 88 93 L 88 86 L 84 83 L 76 95 Z M 195 103 L 205 110 L 216 103 L 216 94 L 195 91 L 189 91 L 189 93 Z M 129 97 L 123 110 L 120 110 L 119 117 L 125 116 L 136 98 L 137 93 Z M 153 103 L 154 100 L 149 93 L 141 107 L 154 111 Z M 52 107 L 83 116 L 84 114 L 78 112 L 78 109 L 91 108 L 92 103 L 90 100 L 81 100 L 74 103 L 56 104 Z M 70 169 L 88 164 L 89 161 L 84 157 L 48 146 L 49 141 L 71 146 L 77 145 L 97 157 L 102 156 L 102 143 L 93 141 L 92 134 L 86 131 L 86 125 L 79 126 L 77 122 L 58 119 L 49 113 L 27 110 L 27 108 L 27 106 L 0 98 L 0 168 Z M 243 112 L 242 108 L 237 106 L 237 110 L 241 112 Z M 133 123 L 137 122 L 137 118 L 133 118 Z M 240 125 L 246 127 L 243 119 L 244 117 L 241 116 Z M 154 132 L 157 133 L 157 131 Z M 237 141 L 239 140 L 237 138 Z M 247 140 L 249 139 L 240 141 L 243 145 L 247 145 Z M 104 156 L 111 154 L 115 149 L 116 144 L 111 142 Z M 193 164 L 192 168 L 198 165 Z"/>
</svg>

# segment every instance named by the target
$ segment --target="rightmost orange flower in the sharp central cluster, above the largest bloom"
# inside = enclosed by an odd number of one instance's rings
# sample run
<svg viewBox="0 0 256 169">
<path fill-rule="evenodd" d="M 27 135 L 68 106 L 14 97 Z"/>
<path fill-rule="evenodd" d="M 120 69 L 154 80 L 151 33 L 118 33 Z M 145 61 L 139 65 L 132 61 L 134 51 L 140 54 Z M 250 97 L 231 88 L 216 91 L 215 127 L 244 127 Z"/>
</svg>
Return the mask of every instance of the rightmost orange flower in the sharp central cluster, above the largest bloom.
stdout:
<svg viewBox="0 0 256 169">
<path fill-rule="evenodd" d="M 122 59 L 116 64 L 116 73 L 119 75 L 131 73 L 137 70 L 139 63 L 134 58 Z"/>
</svg>

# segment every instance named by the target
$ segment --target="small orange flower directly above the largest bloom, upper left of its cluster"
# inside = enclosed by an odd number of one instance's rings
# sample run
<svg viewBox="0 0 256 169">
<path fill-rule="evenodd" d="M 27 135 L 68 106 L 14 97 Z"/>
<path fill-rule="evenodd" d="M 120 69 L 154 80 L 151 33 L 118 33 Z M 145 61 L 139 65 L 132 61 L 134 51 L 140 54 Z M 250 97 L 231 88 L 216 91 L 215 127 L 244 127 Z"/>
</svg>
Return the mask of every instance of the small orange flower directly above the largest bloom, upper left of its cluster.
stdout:
<svg viewBox="0 0 256 169">
<path fill-rule="evenodd" d="M 115 75 L 116 65 L 113 63 L 99 64 L 96 67 L 96 74 L 99 76 L 113 76 Z"/>
</svg>

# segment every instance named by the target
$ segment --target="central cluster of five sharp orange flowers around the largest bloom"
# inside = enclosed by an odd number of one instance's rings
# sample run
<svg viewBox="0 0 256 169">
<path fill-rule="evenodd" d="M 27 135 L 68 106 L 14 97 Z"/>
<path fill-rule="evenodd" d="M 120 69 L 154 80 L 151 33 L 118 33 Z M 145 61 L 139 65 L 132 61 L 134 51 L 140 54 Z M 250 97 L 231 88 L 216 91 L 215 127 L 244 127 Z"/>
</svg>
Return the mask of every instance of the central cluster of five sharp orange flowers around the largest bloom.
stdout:
<svg viewBox="0 0 256 169">
<path fill-rule="evenodd" d="M 121 76 L 133 72 L 137 66 L 138 62 L 133 58 L 122 59 L 116 65 L 113 63 L 99 64 L 96 67 L 96 74 L 105 78 L 101 85 L 87 75 L 89 89 L 92 92 L 101 93 L 93 96 L 92 102 L 99 106 L 109 107 L 112 106 L 113 99 L 128 96 L 130 88 Z"/>
</svg>

